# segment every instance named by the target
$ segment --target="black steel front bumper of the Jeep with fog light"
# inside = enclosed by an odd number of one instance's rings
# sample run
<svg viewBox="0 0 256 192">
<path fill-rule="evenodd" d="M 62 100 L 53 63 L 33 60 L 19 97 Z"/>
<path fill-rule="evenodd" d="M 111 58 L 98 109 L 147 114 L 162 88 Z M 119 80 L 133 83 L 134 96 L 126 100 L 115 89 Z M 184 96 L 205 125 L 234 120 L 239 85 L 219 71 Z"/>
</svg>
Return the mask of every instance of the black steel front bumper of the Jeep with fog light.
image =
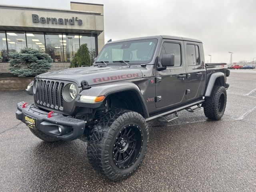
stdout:
<svg viewBox="0 0 256 192">
<path fill-rule="evenodd" d="M 84 133 L 86 124 L 84 120 L 66 117 L 58 113 L 52 113 L 52 117 L 48 118 L 48 112 L 35 108 L 34 104 L 27 104 L 22 108 L 23 104 L 24 102 L 17 104 L 16 118 L 24 123 L 26 123 L 25 115 L 35 118 L 35 128 L 48 136 L 70 141 Z M 58 132 L 59 126 L 64 130 L 61 133 Z"/>
</svg>

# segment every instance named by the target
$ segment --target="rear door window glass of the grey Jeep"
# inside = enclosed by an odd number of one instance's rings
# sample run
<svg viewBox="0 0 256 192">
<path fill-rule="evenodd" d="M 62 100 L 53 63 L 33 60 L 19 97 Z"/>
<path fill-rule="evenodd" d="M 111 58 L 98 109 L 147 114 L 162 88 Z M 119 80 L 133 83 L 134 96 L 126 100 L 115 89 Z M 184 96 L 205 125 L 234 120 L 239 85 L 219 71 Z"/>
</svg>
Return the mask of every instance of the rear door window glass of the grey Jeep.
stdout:
<svg viewBox="0 0 256 192">
<path fill-rule="evenodd" d="M 186 45 L 187 64 L 188 66 L 194 66 L 200 64 L 199 48 L 197 45 Z"/>
</svg>

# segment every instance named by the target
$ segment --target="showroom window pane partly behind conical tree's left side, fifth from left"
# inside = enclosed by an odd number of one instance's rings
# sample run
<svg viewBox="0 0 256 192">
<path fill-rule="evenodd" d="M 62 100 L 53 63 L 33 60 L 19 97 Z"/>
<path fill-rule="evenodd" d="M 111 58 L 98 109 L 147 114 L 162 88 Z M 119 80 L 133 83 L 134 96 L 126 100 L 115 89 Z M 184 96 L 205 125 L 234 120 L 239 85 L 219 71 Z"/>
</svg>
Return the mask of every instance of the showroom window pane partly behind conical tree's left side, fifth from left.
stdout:
<svg viewBox="0 0 256 192">
<path fill-rule="evenodd" d="M 63 34 L 64 61 L 71 62 L 79 49 L 79 34 Z"/>
</svg>

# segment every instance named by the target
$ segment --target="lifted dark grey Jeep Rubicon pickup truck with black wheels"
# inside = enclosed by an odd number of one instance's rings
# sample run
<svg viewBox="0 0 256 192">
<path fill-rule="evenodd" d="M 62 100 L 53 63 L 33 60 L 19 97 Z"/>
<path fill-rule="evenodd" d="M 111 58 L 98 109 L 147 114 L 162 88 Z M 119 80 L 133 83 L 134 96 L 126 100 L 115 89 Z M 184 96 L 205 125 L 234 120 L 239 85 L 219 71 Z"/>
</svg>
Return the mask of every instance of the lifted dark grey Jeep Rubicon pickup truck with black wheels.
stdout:
<svg viewBox="0 0 256 192">
<path fill-rule="evenodd" d="M 226 108 L 225 63 L 206 64 L 200 40 L 150 36 L 107 43 L 91 67 L 40 74 L 28 85 L 34 104 L 16 118 L 46 142 L 87 145 L 92 166 L 111 180 L 130 176 L 144 158 L 147 122 L 204 109 L 219 120 Z"/>
</svg>

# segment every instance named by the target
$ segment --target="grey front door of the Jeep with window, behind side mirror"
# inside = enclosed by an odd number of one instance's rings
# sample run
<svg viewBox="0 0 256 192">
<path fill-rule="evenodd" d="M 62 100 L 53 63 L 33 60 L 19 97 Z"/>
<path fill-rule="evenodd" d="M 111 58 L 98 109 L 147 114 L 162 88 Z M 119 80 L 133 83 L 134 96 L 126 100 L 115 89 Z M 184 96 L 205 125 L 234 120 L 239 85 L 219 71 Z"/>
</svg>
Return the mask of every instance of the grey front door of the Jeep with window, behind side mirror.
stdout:
<svg viewBox="0 0 256 192">
<path fill-rule="evenodd" d="M 156 108 L 172 107 L 184 101 L 186 92 L 186 68 L 184 44 L 178 40 L 163 40 L 158 66 L 163 54 L 174 54 L 174 66 L 156 70 Z"/>
</svg>

